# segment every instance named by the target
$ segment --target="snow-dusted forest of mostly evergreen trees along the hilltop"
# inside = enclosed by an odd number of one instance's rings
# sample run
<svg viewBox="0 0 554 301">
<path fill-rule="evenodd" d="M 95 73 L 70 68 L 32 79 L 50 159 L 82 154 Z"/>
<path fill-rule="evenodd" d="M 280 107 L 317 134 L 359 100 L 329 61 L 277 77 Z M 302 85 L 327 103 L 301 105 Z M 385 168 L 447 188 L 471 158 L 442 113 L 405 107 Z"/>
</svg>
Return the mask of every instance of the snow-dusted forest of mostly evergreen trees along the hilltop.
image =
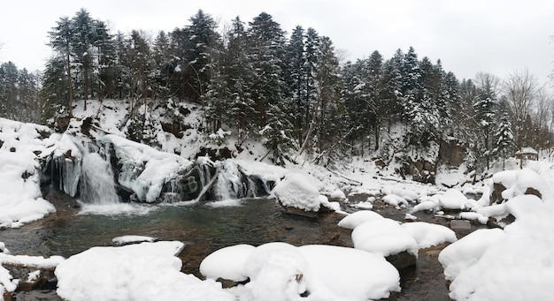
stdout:
<svg viewBox="0 0 554 301">
<path fill-rule="evenodd" d="M 58 19 L 49 41 L 56 55 L 42 74 L 0 66 L 0 116 L 45 121 L 71 117 L 75 100 L 119 99 L 130 102 L 135 132 L 148 132 L 139 108 L 194 102 L 204 132 L 233 132 L 236 147 L 260 137 L 276 163 L 297 154 L 321 164 L 387 160 L 456 140 L 483 169 L 520 147 L 551 145 L 550 95 L 527 70 L 460 81 L 413 48 L 342 63 L 327 36 L 302 26 L 287 34 L 265 12 L 222 25 L 198 11 L 189 25 L 152 35 L 112 33 L 82 9 Z"/>
</svg>

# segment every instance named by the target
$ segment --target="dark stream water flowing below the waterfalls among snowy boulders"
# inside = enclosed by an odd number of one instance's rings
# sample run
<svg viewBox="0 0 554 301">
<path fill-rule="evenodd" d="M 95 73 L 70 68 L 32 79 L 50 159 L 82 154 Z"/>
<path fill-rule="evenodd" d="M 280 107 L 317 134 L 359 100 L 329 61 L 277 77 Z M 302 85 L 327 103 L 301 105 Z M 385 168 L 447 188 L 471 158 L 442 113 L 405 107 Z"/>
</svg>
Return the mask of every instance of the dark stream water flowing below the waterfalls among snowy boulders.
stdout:
<svg viewBox="0 0 554 301">
<path fill-rule="evenodd" d="M 273 199 L 192 206 L 120 203 L 112 205 L 114 210 L 120 208 L 119 214 L 82 214 L 87 212 L 88 205 L 78 207 L 75 199 L 63 193 L 52 192 L 45 197 L 58 208 L 56 214 L 20 229 L 0 230 L 0 241 L 12 254 L 67 258 L 93 246 L 112 245 L 113 237 L 142 235 L 184 242 L 186 246 L 180 254 L 182 271 L 199 276 L 198 267 L 205 256 L 228 245 L 283 241 L 292 245 L 352 246 L 351 231 L 336 226 L 342 219 L 341 214 L 328 214 L 317 220 L 285 214 Z M 220 206 L 226 203 L 235 206 Z M 404 215 L 394 208 L 380 214 L 396 219 Z M 436 258 L 420 252 L 418 267 L 401 275 L 403 291 L 398 294 L 398 300 L 447 299 L 442 267 Z"/>
</svg>

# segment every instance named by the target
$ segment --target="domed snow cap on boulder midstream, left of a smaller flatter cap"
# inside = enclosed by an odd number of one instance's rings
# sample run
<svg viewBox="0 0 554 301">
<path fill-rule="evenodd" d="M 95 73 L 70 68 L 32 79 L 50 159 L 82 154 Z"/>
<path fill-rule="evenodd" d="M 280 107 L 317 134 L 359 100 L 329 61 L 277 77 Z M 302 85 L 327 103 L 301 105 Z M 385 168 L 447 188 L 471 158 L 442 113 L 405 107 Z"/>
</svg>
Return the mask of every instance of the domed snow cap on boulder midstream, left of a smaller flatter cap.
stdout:
<svg viewBox="0 0 554 301">
<path fill-rule="evenodd" d="M 418 255 L 418 243 L 412 235 L 388 218 L 360 224 L 352 231 L 352 242 L 356 249 L 384 257 L 404 251 Z"/>
</svg>

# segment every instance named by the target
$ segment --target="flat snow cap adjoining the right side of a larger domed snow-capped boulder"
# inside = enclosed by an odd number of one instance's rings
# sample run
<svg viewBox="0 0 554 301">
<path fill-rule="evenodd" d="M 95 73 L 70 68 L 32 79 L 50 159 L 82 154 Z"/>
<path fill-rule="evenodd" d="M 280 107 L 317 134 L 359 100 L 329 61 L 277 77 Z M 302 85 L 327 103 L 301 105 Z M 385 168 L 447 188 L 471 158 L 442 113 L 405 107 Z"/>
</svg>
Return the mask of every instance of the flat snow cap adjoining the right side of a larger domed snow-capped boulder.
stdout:
<svg viewBox="0 0 554 301">
<path fill-rule="evenodd" d="M 428 222 L 406 222 L 401 225 L 418 243 L 419 249 L 443 243 L 453 243 L 458 238 L 449 228 Z"/>
</svg>

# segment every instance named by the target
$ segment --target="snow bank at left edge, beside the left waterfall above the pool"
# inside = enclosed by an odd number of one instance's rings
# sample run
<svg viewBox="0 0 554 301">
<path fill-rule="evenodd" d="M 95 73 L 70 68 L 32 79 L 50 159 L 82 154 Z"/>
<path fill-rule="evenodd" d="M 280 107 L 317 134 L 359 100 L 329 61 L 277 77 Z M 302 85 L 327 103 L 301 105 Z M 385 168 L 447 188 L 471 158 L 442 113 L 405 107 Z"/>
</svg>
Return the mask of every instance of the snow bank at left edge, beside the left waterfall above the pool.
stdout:
<svg viewBox="0 0 554 301">
<path fill-rule="evenodd" d="M 56 212 L 42 199 L 36 161 L 37 154 L 47 152 L 39 132 L 50 130 L 0 118 L 0 131 L 0 228 L 17 228 Z"/>
</svg>

